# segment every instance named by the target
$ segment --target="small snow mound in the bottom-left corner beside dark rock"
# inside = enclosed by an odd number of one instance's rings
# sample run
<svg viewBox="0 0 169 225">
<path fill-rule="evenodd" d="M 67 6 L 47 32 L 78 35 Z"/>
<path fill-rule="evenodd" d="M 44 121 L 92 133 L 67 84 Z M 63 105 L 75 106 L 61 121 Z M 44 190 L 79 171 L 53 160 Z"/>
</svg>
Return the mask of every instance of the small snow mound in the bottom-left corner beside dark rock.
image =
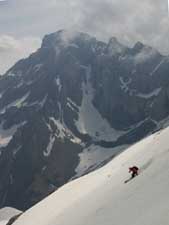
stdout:
<svg viewBox="0 0 169 225">
<path fill-rule="evenodd" d="M 10 220 L 10 218 L 20 213 L 21 211 L 10 207 L 0 209 L 0 225 L 6 224 Z"/>
</svg>

